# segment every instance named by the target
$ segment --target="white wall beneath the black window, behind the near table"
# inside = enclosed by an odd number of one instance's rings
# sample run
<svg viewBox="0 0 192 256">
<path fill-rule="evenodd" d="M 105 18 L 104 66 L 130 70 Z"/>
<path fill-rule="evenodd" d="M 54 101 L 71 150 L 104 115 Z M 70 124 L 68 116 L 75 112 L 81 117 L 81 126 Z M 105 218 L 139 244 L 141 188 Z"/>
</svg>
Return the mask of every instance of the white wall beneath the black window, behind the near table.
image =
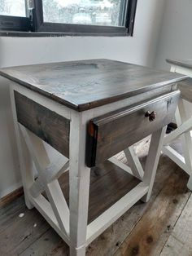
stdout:
<svg viewBox="0 0 192 256">
<path fill-rule="evenodd" d="M 107 58 L 152 66 L 164 0 L 138 0 L 133 38 L 0 38 L 0 67 Z M 0 79 L 0 197 L 20 186 L 7 81 Z"/>
</svg>

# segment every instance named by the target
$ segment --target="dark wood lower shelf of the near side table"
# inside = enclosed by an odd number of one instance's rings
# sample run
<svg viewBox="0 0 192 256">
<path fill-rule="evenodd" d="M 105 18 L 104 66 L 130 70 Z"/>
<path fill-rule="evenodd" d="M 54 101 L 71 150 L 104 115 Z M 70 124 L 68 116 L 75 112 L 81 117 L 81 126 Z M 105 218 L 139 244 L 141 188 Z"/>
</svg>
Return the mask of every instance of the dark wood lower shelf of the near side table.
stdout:
<svg viewBox="0 0 192 256">
<path fill-rule="evenodd" d="M 105 210 L 114 205 L 116 201 L 119 201 L 122 196 L 140 182 L 139 179 L 121 170 L 110 161 L 105 161 L 102 165 L 92 168 L 90 174 L 88 223 L 92 222 L 100 214 L 103 214 Z M 59 183 L 63 195 L 68 202 L 68 172 L 59 178 Z"/>
</svg>

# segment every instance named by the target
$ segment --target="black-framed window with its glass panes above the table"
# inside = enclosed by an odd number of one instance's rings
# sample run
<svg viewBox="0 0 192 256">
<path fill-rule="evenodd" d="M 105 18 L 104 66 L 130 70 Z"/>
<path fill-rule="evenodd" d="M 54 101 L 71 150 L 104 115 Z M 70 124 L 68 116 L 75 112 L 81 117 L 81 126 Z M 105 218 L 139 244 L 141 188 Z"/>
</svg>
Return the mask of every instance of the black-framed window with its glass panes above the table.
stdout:
<svg viewBox="0 0 192 256">
<path fill-rule="evenodd" d="M 0 0 L 0 29 L 20 30 L 25 22 L 21 30 L 132 35 L 136 5 L 137 0 Z"/>
</svg>

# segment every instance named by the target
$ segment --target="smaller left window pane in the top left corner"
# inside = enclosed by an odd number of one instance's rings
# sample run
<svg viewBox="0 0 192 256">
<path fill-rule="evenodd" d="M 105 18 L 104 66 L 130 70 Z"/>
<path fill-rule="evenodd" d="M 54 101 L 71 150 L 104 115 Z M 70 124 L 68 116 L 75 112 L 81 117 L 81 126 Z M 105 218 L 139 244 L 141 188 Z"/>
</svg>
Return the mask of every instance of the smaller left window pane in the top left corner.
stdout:
<svg viewBox="0 0 192 256">
<path fill-rule="evenodd" d="M 24 0 L 0 0 L 0 15 L 25 17 Z"/>
</svg>

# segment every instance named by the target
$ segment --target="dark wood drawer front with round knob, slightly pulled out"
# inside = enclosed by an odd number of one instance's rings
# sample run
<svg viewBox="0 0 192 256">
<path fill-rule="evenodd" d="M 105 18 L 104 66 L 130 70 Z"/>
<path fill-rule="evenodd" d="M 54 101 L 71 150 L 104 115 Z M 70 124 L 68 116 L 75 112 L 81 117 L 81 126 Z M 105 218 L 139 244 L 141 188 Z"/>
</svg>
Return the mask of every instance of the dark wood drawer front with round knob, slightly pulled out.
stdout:
<svg viewBox="0 0 192 256">
<path fill-rule="evenodd" d="M 176 90 L 129 108 L 122 108 L 89 121 L 86 165 L 114 156 L 133 143 L 168 125 L 175 113 L 180 91 Z"/>
</svg>

